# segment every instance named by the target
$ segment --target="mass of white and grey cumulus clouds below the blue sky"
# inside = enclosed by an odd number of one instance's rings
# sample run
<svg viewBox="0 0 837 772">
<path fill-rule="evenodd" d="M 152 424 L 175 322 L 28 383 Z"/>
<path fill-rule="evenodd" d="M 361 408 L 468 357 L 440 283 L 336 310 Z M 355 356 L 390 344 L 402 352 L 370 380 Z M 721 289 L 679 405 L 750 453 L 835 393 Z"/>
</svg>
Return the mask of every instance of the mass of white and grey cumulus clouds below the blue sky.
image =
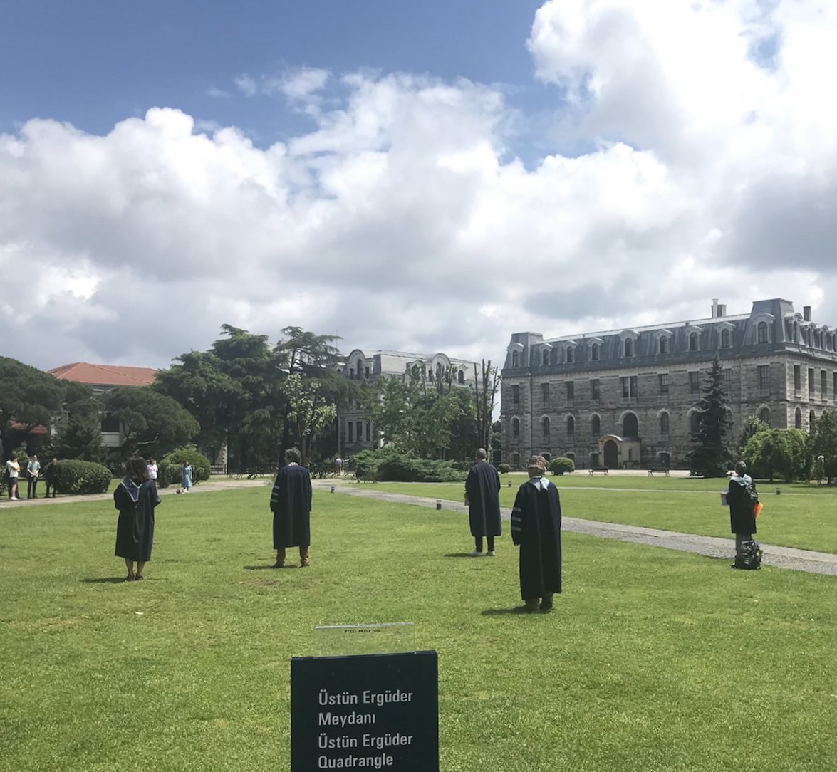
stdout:
<svg viewBox="0 0 837 772">
<path fill-rule="evenodd" d="M 585 151 L 528 166 L 500 90 L 413 74 L 239 76 L 314 120 L 269 147 L 177 109 L 105 136 L 31 120 L 0 136 L 0 268 L 37 277 L 0 301 L 6 353 L 165 365 L 229 323 L 496 361 L 514 331 L 713 297 L 835 325 L 835 43 L 807 0 L 547 2 L 533 71 L 556 147 Z"/>
</svg>

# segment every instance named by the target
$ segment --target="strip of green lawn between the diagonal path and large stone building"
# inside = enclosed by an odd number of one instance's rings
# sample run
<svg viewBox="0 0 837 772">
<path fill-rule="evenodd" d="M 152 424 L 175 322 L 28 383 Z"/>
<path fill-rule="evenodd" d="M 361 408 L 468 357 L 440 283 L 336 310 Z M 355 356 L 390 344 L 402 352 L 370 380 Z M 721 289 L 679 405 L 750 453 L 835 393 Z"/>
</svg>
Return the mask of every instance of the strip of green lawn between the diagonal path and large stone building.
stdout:
<svg viewBox="0 0 837 772">
<path fill-rule="evenodd" d="M 501 504 L 514 504 L 517 487 L 526 478 L 504 475 Z M 511 488 L 508 482 L 511 481 Z M 725 480 L 689 478 L 552 478 L 561 490 L 567 517 L 607 523 L 643 525 L 701 536 L 732 539 L 729 510 L 721 507 Z M 352 483 L 358 484 L 358 483 Z M 359 483 L 362 487 L 462 503 L 459 483 Z M 776 495 L 776 488 L 782 493 Z M 760 541 L 800 550 L 837 553 L 837 488 L 797 483 L 759 483 L 764 504 L 757 521 Z"/>
</svg>

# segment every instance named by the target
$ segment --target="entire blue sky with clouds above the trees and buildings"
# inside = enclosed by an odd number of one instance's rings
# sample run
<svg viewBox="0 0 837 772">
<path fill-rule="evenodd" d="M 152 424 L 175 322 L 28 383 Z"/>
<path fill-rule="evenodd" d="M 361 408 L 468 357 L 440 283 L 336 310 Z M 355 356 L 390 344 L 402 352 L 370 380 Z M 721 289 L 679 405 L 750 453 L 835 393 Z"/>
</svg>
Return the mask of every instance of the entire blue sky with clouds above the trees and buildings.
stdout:
<svg viewBox="0 0 837 772">
<path fill-rule="evenodd" d="M 834 69 L 821 0 L 0 0 L 0 354 L 837 326 Z"/>
</svg>

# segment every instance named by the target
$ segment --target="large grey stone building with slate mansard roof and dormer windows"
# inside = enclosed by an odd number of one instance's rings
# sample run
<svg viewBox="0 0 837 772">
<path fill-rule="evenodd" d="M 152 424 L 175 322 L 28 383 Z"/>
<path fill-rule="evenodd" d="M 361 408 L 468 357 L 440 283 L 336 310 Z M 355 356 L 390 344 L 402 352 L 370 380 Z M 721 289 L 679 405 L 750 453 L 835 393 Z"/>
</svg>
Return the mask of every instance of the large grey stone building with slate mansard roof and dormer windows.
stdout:
<svg viewBox="0 0 837 772">
<path fill-rule="evenodd" d="M 837 331 L 783 299 L 727 316 L 624 330 L 511 336 L 502 371 L 503 460 L 567 456 L 578 468 L 682 468 L 711 360 L 723 366 L 735 442 L 742 422 L 809 430 L 837 393 Z"/>
</svg>

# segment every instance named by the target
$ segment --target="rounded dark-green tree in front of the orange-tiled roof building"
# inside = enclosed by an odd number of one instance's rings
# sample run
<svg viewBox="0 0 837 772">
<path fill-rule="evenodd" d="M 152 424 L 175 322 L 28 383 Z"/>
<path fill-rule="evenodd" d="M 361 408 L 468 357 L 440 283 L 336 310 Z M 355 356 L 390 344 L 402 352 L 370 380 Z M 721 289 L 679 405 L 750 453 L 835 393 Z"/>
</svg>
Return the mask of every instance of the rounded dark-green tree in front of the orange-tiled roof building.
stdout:
<svg viewBox="0 0 837 772">
<path fill-rule="evenodd" d="M 119 420 L 125 441 L 121 455 L 162 456 L 187 444 L 200 432 L 192 413 L 151 386 L 120 386 L 105 394 L 105 410 Z"/>
</svg>

